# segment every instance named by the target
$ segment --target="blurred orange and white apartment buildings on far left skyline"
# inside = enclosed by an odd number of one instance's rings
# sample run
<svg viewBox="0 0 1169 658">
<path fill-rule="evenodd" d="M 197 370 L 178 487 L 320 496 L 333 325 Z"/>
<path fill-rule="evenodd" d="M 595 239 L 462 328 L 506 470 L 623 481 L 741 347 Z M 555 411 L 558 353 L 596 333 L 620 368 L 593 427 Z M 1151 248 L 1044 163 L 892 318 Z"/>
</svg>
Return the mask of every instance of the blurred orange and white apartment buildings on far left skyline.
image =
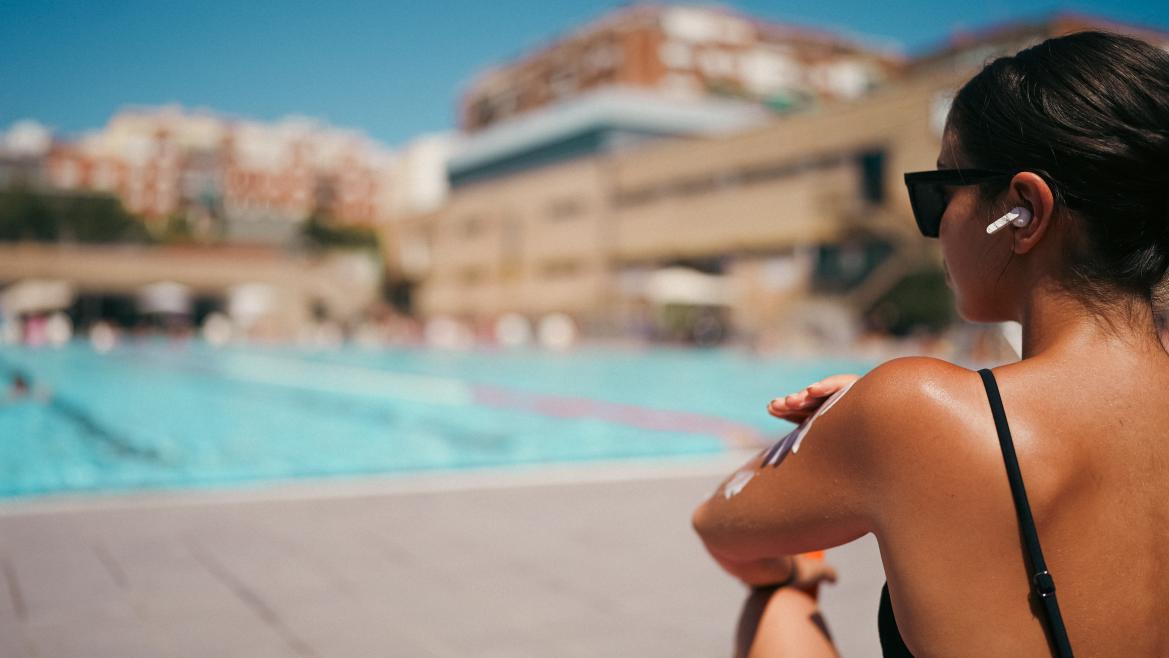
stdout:
<svg viewBox="0 0 1169 658">
<path fill-rule="evenodd" d="M 428 136 L 392 151 L 309 118 L 165 106 L 124 110 L 74 141 L 50 139 L 36 158 L 46 186 L 113 194 L 155 226 L 181 215 L 207 237 L 278 244 L 313 214 L 376 227 L 434 207 L 447 189 L 445 144 Z"/>
</svg>

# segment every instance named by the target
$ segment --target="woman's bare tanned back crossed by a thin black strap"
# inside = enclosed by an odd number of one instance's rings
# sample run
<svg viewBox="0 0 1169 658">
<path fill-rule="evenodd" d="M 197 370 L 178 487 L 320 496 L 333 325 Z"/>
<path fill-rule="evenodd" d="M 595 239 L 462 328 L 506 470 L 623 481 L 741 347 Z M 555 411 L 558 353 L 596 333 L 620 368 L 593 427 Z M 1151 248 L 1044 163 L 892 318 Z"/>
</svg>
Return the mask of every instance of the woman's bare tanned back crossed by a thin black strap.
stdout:
<svg viewBox="0 0 1169 658">
<path fill-rule="evenodd" d="M 995 374 L 1077 653 L 1169 654 L 1169 355 L 1114 356 Z M 924 369 L 920 403 L 883 423 L 901 432 L 884 438 L 901 475 L 876 520 L 901 633 L 919 654 L 1046 654 L 982 383 Z"/>
</svg>

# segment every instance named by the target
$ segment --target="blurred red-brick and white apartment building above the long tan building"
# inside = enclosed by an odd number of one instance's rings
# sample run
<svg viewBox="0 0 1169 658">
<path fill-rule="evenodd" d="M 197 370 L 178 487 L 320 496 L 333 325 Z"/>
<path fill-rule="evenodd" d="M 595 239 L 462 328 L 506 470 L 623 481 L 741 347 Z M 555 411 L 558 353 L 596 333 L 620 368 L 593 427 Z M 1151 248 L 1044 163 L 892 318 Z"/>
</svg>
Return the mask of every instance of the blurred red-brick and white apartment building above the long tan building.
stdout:
<svg viewBox="0 0 1169 658">
<path fill-rule="evenodd" d="M 860 97 L 900 64 L 887 49 L 725 7 L 634 5 L 480 74 L 463 96 L 461 127 L 476 132 L 607 86 L 788 110 Z"/>
</svg>

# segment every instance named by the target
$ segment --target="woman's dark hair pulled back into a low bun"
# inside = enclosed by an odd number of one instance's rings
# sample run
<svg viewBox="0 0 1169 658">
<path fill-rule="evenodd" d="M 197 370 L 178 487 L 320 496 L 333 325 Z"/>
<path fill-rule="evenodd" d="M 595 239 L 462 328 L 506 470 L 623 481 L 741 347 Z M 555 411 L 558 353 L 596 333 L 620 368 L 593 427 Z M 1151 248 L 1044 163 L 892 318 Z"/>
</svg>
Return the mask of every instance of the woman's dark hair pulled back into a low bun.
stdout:
<svg viewBox="0 0 1169 658">
<path fill-rule="evenodd" d="M 1169 53 L 1100 32 L 1049 39 L 987 64 L 948 124 L 970 166 L 1035 172 L 1070 210 L 1070 290 L 1098 304 L 1156 297 L 1169 270 Z"/>
</svg>

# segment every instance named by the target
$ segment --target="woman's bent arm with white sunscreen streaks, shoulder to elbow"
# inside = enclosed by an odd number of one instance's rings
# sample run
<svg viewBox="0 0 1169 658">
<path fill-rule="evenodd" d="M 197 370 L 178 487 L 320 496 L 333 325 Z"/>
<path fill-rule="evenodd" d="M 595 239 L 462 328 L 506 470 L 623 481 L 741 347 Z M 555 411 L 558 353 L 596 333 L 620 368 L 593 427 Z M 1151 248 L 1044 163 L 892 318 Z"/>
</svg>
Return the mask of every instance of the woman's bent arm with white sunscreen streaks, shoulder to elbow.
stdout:
<svg viewBox="0 0 1169 658">
<path fill-rule="evenodd" d="M 756 456 L 694 512 L 712 553 L 738 560 L 839 546 L 873 529 L 888 469 L 904 444 L 915 390 L 943 361 L 897 359 L 858 380 L 807 429 L 798 451 L 777 465 Z M 916 408 L 920 411 L 920 408 Z M 907 423 L 912 427 L 914 423 Z"/>
</svg>

